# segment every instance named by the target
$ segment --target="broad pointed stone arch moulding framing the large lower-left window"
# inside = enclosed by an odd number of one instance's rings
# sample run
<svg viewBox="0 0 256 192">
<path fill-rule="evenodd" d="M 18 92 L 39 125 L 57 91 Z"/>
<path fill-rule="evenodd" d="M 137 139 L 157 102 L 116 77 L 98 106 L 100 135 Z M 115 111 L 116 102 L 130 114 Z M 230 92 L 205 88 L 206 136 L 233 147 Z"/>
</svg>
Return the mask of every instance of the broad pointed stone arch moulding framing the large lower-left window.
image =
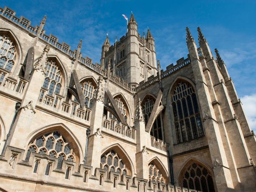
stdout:
<svg viewBox="0 0 256 192">
<path fill-rule="evenodd" d="M 73 132 L 66 125 L 62 123 L 51 124 L 51 125 L 47 125 L 39 129 L 36 129 L 34 132 L 28 135 L 24 148 L 26 148 L 32 140 L 35 140 L 40 135 L 43 135 L 44 133 L 51 132 L 51 131 L 59 131 L 65 136 L 65 139 L 67 139 L 69 143 L 72 145 L 73 150 L 76 151 L 76 162 L 78 164 L 81 163 L 84 155 L 82 147 L 78 139 L 76 138 L 76 136 L 73 134 Z"/>
</svg>

